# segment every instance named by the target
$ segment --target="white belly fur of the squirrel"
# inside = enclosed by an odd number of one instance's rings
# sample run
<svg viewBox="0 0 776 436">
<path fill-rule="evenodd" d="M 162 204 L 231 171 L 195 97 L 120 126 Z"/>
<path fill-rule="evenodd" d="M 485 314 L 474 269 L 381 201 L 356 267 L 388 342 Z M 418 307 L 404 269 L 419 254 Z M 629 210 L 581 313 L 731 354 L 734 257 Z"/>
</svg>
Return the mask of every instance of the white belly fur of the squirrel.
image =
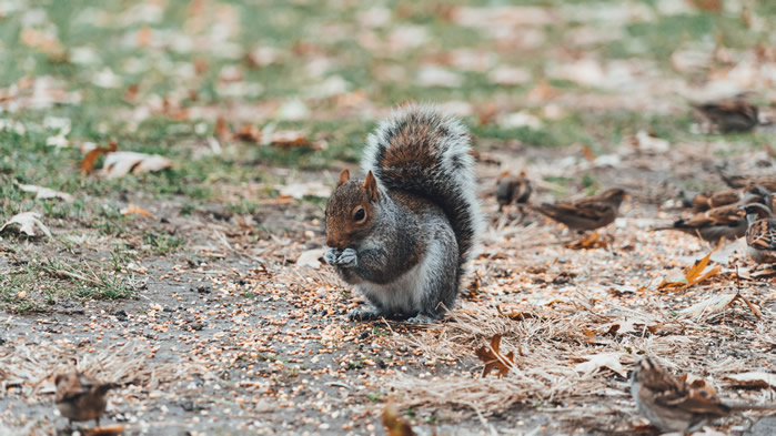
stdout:
<svg viewBox="0 0 776 436">
<path fill-rule="evenodd" d="M 355 287 L 389 311 L 421 312 L 424 294 L 430 291 L 430 278 L 441 268 L 441 252 L 439 242 L 431 241 L 421 261 L 399 278 L 386 284 L 364 282 Z"/>
</svg>

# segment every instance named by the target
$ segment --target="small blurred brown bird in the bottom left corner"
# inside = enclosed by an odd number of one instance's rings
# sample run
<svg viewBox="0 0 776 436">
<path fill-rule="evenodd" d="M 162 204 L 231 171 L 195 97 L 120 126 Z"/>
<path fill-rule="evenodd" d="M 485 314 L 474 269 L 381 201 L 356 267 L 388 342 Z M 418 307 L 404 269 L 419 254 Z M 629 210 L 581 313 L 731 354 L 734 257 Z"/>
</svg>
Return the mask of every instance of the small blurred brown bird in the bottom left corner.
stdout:
<svg viewBox="0 0 776 436">
<path fill-rule="evenodd" d="M 85 374 L 72 372 L 54 378 L 56 403 L 59 412 L 73 422 L 94 419 L 100 426 L 100 416 L 105 412 L 108 391 L 119 387 L 115 383 L 98 383 Z"/>
</svg>

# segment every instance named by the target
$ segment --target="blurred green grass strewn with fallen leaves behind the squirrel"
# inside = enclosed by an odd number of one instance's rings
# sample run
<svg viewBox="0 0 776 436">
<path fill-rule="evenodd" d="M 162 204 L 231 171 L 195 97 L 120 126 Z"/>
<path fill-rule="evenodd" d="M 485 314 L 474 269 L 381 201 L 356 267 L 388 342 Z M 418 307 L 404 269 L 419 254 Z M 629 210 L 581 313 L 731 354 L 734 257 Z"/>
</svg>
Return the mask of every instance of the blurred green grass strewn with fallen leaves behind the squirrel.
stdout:
<svg viewBox="0 0 776 436">
<path fill-rule="evenodd" d="M 2 171 L 72 191 L 58 170 L 112 138 L 187 162 L 158 190 L 206 197 L 258 165 L 356 162 L 405 100 L 513 150 L 693 140 L 692 102 L 773 103 L 775 23 L 767 0 L 0 0 Z"/>
</svg>

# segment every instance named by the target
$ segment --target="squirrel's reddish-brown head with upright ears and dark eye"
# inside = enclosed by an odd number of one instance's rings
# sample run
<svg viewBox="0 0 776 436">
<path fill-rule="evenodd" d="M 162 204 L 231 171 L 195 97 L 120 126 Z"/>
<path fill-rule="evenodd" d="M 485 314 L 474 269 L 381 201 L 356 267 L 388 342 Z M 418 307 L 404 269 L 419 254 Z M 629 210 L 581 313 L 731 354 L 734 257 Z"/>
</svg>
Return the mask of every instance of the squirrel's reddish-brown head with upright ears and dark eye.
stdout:
<svg viewBox="0 0 776 436">
<path fill-rule="evenodd" d="M 326 245 L 346 249 L 369 235 L 379 199 L 380 187 L 371 171 L 362 181 L 351 180 L 347 170 L 343 170 L 326 204 Z"/>
</svg>

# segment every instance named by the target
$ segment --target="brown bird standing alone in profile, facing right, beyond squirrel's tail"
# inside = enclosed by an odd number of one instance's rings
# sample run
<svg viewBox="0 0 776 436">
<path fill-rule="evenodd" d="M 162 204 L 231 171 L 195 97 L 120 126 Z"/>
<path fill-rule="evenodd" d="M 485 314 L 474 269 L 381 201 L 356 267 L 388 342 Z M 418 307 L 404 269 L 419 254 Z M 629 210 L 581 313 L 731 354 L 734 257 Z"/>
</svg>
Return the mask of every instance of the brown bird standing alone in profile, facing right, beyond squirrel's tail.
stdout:
<svg viewBox="0 0 776 436">
<path fill-rule="evenodd" d="M 625 191 L 614 187 L 574 202 L 543 203 L 534 209 L 571 230 L 588 231 L 612 224 L 625 199 Z"/>
</svg>

